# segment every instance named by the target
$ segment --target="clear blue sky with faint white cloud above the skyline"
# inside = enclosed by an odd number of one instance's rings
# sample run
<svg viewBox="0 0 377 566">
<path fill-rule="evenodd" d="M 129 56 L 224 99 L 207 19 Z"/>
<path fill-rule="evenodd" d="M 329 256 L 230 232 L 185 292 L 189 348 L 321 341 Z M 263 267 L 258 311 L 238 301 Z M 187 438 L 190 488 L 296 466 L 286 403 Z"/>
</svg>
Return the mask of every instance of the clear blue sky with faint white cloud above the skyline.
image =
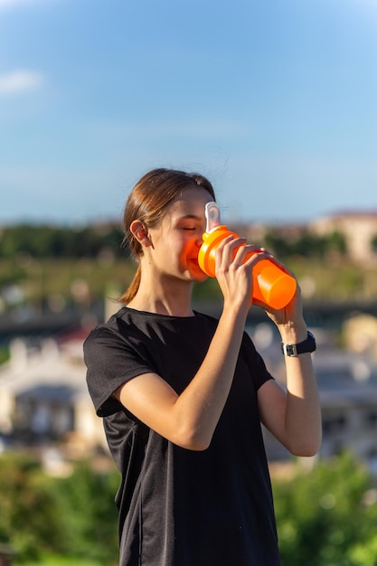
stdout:
<svg viewBox="0 0 377 566">
<path fill-rule="evenodd" d="M 118 218 L 156 166 L 227 222 L 377 211 L 377 0 L 0 0 L 0 222 Z"/>
</svg>

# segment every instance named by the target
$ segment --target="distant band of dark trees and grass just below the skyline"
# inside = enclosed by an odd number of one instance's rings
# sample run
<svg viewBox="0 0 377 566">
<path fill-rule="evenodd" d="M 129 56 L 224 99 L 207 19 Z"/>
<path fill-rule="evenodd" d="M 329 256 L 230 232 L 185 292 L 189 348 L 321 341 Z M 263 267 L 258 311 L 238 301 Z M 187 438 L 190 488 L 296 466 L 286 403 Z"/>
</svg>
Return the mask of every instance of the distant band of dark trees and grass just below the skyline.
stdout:
<svg viewBox="0 0 377 566">
<path fill-rule="evenodd" d="M 102 300 L 108 286 L 117 287 L 121 294 L 136 271 L 122 241 L 123 233 L 111 224 L 76 230 L 28 224 L 4 228 L 0 233 L 0 311 L 76 305 L 72 284 L 78 279 L 88 289 L 82 300 L 85 307 Z M 270 229 L 259 244 L 274 252 L 299 282 L 304 278 L 306 289 L 311 280 L 311 294 L 306 298 L 338 303 L 377 298 L 377 269 L 372 264 L 354 265 L 340 232 L 317 236 L 304 230 L 287 236 Z M 221 301 L 217 281 L 209 278 L 195 285 L 193 297 Z"/>
</svg>

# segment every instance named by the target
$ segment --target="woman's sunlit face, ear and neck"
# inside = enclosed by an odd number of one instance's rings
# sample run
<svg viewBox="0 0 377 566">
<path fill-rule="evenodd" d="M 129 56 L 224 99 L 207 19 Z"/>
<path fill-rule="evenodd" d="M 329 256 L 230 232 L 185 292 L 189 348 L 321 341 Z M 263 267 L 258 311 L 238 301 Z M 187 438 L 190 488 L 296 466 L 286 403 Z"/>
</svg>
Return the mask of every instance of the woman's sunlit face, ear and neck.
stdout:
<svg viewBox="0 0 377 566">
<path fill-rule="evenodd" d="M 206 224 L 204 208 L 210 201 L 212 197 L 207 191 L 188 188 L 168 206 L 156 229 L 146 230 L 142 222 L 132 222 L 131 231 L 143 246 L 142 279 L 137 297 L 128 307 L 161 314 L 193 315 L 190 306 L 193 282 L 207 278 L 199 268 L 198 252 Z"/>
</svg>

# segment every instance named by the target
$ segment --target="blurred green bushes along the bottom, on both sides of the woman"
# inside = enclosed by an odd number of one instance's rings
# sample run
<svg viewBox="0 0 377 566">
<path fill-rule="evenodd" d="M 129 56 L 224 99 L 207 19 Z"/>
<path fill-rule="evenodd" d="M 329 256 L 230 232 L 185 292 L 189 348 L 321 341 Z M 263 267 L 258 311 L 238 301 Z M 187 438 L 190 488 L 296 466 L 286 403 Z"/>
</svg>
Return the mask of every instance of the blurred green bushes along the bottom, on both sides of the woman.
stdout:
<svg viewBox="0 0 377 566">
<path fill-rule="evenodd" d="M 50 477 L 35 458 L 3 455 L 0 478 L 0 544 L 14 547 L 15 564 L 118 563 L 113 467 L 81 462 Z M 377 491 L 351 455 L 273 477 L 273 489 L 283 566 L 377 566 Z"/>
</svg>

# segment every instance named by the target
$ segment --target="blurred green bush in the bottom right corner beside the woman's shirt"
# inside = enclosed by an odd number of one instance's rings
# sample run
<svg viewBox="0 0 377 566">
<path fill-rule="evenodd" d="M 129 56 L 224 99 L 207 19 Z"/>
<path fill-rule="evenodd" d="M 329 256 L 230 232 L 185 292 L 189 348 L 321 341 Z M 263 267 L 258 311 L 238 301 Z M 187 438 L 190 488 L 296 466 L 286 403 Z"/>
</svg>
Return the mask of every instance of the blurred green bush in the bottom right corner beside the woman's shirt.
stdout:
<svg viewBox="0 0 377 566">
<path fill-rule="evenodd" d="M 375 566 L 377 505 L 371 478 L 352 456 L 274 482 L 283 566 Z"/>
</svg>

